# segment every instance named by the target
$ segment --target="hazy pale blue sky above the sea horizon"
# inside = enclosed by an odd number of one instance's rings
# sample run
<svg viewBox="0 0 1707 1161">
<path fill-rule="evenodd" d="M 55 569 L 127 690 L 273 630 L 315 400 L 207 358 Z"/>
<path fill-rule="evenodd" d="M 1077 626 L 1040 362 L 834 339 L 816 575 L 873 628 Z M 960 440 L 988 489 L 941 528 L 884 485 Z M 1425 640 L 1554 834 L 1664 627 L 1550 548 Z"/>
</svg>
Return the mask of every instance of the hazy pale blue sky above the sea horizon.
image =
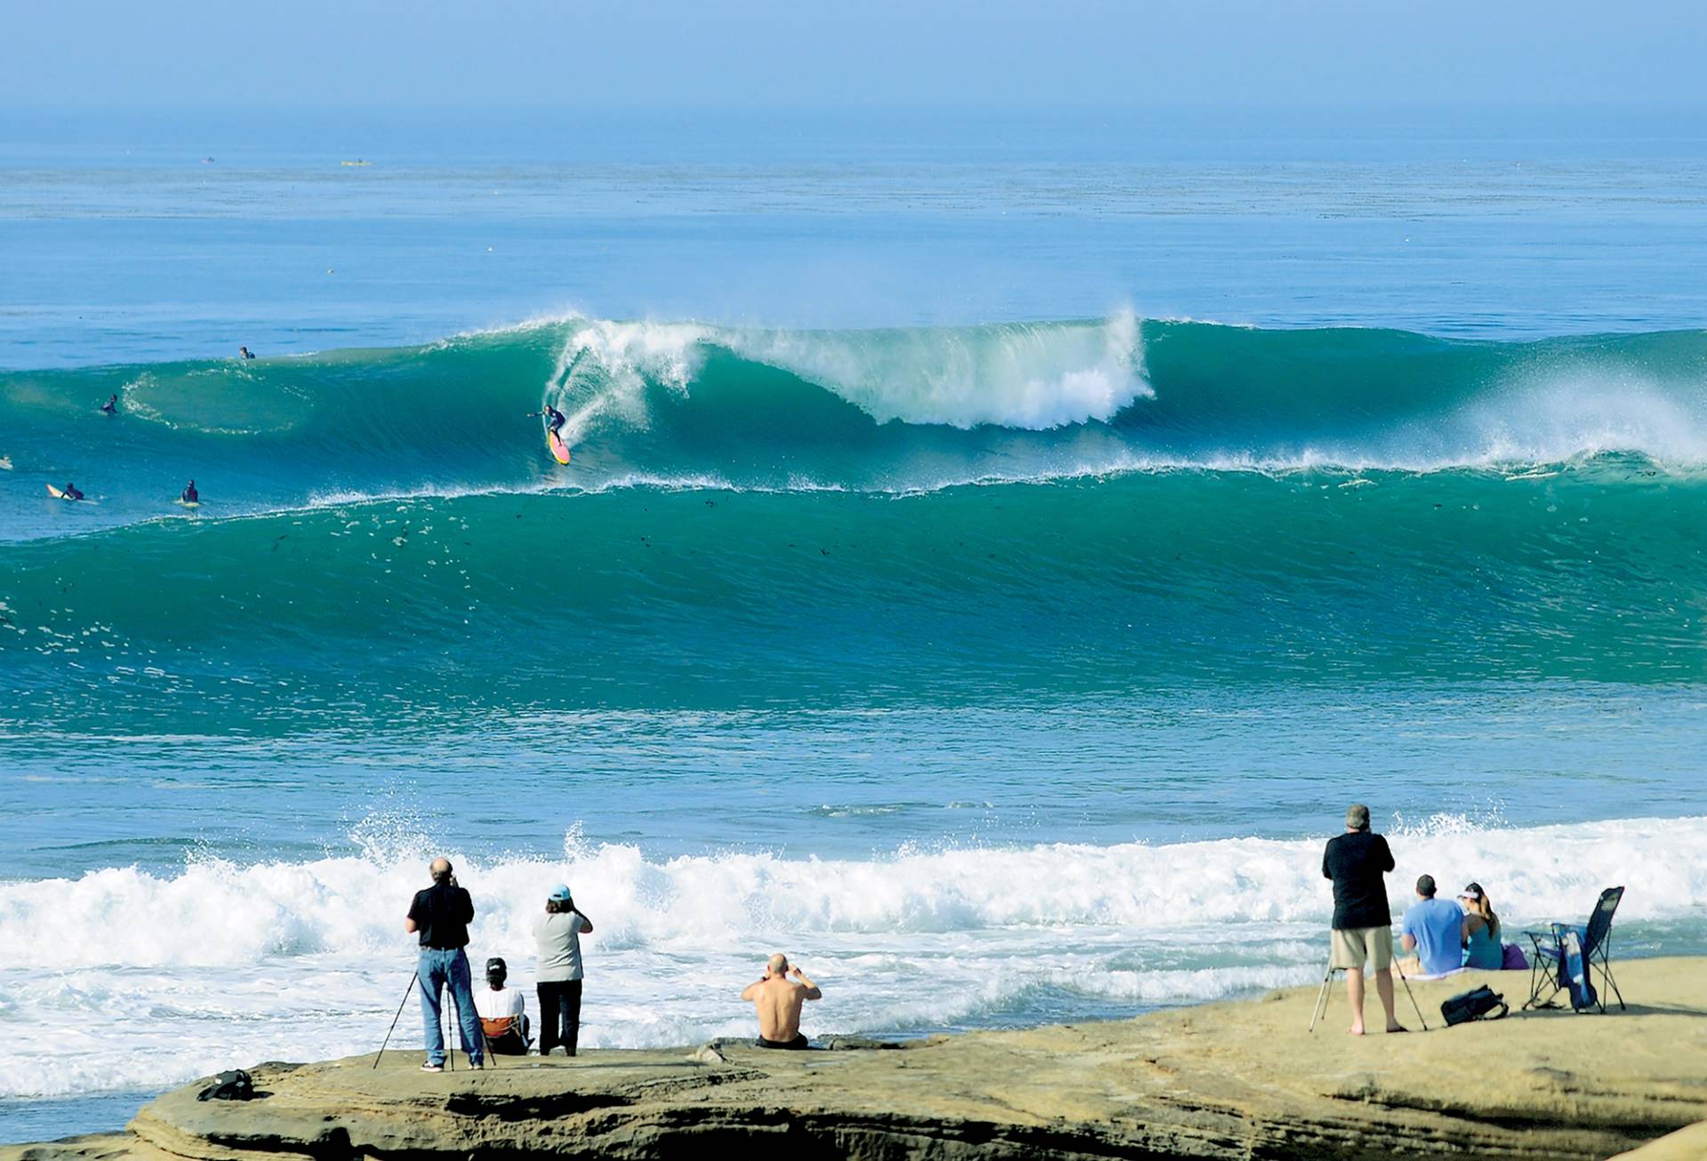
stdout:
<svg viewBox="0 0 1707 1161">
<path fill-rule="evenodd" d="M 1707 102 L 1635 0 L 10 3 L 5 108 Z"/>
</svg>

